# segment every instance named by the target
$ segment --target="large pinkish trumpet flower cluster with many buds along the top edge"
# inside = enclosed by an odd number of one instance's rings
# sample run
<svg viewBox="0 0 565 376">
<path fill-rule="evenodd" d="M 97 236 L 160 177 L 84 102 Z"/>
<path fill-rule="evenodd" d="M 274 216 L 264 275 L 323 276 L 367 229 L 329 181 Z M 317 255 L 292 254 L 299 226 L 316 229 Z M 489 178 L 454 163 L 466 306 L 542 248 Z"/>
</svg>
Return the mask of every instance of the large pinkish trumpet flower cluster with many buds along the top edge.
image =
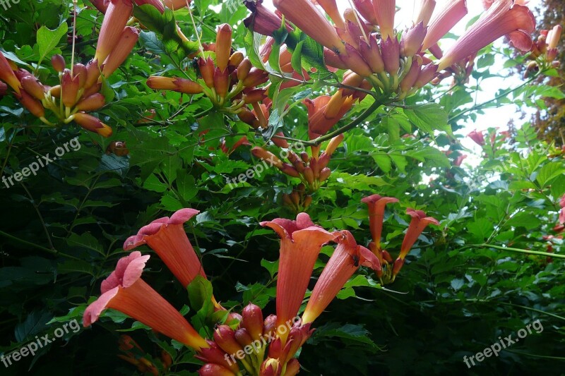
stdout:
<svg viewBox="0 0 565 376">
<path fill-rule="evenodd" d="M 329 67 L 350 69 L 381 97 L 393 99 L 412 95 L 440 71 L 458 73 L 460 68 L 451 67 L 462 62 L 468 75 L 472 56 L 503 35 L 511 36 L 515 47 L 527 51 L 529 33 L 535 29 L 535 19 L 526 6 L 495 0 L 444 54 L 438 42 L 467 13 L 465 0 L 448 1 L 441 9 L 436 9 L 434 0 L 422 0 L 412 25 L 400 35 L 394 29 L 395 0 L 353 0 L 355 9 L 343 15 L 335 0 L 318 1 L 320 8 L 309 0 L 275 0 L 274 4 L 286 20 L 323 45 Z M 269 35 L 280 27 L 279 15 L 261 6 L 261 1 L 251 11 L 250 27 L 256 32 Z M 434 62 L 426 51 L 439 61 Z"/>
</svg>

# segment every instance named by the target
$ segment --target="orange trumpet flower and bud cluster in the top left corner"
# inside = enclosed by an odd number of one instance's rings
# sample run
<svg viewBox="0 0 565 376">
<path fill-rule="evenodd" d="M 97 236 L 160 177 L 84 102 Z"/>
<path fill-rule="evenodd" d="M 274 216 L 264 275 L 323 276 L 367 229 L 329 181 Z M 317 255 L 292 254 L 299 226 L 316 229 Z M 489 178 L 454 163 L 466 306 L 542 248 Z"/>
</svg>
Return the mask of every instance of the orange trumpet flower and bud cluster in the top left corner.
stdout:
<svg viewBox="0 0 565 376">
<path fill-rule="evenodd" d="M 105 104 L 101 94 L 102 78 L 108 78 L 123 63 L 135 46 L 139 30 L 126 26 L 133 4 L 129 0 L 107 1 L 105 18 L 100 28 L 96 54 L 86 65 L 75 63 L 66 68 L 63 56 L 52 56 L 52 66 L 59 75 L 59 85 L 49 87 L 35 75 L 17 66 L 0 53 L 0 80 L 7 83 L 20 103 L 43 123 L 71 123 L 98 133 L 112 135 L 112 128 L 96 116 L 88 114 Z M 57 119 L 53 123 L 46 115 L 49 111 Z"/>
</svg>

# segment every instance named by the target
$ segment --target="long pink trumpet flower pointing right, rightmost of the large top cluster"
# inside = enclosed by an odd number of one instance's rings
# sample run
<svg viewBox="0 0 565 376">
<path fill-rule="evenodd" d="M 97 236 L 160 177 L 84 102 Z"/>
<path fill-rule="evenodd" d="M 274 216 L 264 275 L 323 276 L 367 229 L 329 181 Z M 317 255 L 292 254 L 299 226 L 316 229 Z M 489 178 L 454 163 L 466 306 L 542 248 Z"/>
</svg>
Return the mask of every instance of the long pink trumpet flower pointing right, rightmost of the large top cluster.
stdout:
<svg viewBox="0 0 565 376">
<path fill-rule="evenodd" d="M 488 11 L 475 22 L 439 61 L 439 71 L 465 59 L 503 35 L 520 31 L 530 34 L 535 30 L 535 17 L 526 6 L 513 4 L 513 0 L 496 0 Z M 517 34 L 515 34 L 516 36 Z M 523 37 L 517 39 L 517 48 L 531 48 Z M 527 48 L 526 48 L 527 47 Z"/>
</svg>

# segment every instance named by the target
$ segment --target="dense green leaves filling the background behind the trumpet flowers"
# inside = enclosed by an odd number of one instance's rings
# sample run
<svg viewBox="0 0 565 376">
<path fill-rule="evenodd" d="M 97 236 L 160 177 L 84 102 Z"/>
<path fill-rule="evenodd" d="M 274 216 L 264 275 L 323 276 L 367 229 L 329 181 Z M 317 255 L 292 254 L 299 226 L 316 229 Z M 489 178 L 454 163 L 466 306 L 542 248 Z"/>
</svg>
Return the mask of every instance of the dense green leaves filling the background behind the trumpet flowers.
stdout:
<svg viewBox="0 0 565 376">
<path fill-rule="evenodd" d="M 82 39 L 76 56 L 85 63 L 94 55 L 95 30 L 102 17 L 78 3 L 76 30 Z M 136 7 L 135 16 L 148 30 L 141 32 L 138 47 L 107 82 L 105 95 L 112 100 L 100 110 L 100 118 L 114 129 L 110 139 L 73 126 L 44 128 L 13 97 L 0 100 L 0 176 L 22 171 L 37 157 L 53 156 L 73 138 L 81 145 L 39 169 L 37 176 L 0 188 L 0 352 L 7 354 L 70 320 L 80 322 L 86 305 L 100 295 L 100 281 L 124 255 L 126 238 L 182 207 L 200 210 L 185 229 L 208 281 L 196 279 L 187 296 L 153 254 L 144 279 L 191 317 L 203 334 L 210 334 L 214 322 L 226 320 L 205 303 L 212 293 L 236 312 L 249 302 L 265 313 L 275 312 L 278 238 L 258 223 L 295 217 L 283 205 L 283 194 L 299 181 L 270 168 L 229 186 L 227 178 L 244 174 L 258 160 L 249 147 L 225 154 L 220 143 L 230 146 L 246 136 L 254 146 L 268 145 L 277 153 L 280 149 L 268 142 L 278 131 L 305 140 L 303 99 L 333 92 L 338 76 L 323 66 L 319 44 L 300 30 L 281 32 L 273 49 L 284 40 L 297 71 L 317 71 L 308 82 L 278 91 L 274 89 L 283 74 L 277 59 L 268 61 L 273 110 L 263 133 L 236 116 L 211 110 L 202 95 L 150 90 L 145 85 L 148 75 L 194 76 L 187 56 L 196 51 L 196 35 L 215 40 L 220 22 L 236 25 L 234 47 L 244 49 L 254 66 L 263 66 L 258 54 L 261 36 L 239 23 L 246 16 L 241 4 L 196 0 L 191 9 L 196 30 L 186 10 L 160 15 L 149 6 Z M 10 51 L 6 56 L 54 84 L 49 77 L 57 76 L 47 60 L 55 53 L 71 56 L 64 38 L 71 30 L 71 11 L 71 4 L 57 0 L 13 4 L 0 15 L 10 20 L 0 24 L 2 48 Z M 175 20 L 189 42 L 179 40 Z M 562 239 L 544 238 L 557 235 L 552 228 L 558 221 L 559 198 L 565 194 L 562 154 L 552 154 L 552 145 L 537 140 L 535 129 L 525 123 L 512 140 L 490 128 L 480 159 L 475 158 L 472 167 L 454 164 L 458 155 L 469 152 L 461 145 L 461 130 L 477 112 L 504 104 L 540 107 L 544 97 L 564 97 L 556 87 L 525 83 L 476 104 L 475 91 L 488 90 L 482 80 L 499 74 L 489 71 L 494 56 L 501 54 L 482 51 L 468 87 L 424 90 L 405 104 L 380 107 L 345 134 L 329 164 L 333 173 L 308 209 L 314 223 L 328 230 L 348 229 L 359 244 L 367 245 L 369 219 L 360 200 L 374 193 L 396 197 L 400 202 L 387 208 L 383 229 L 383 246 L 394 257 L 410 222 L 408 207 L 425 210 L 441 225 L 420 236 L 394 284 L 381 286 L 364 267 L 347 282 L 314 322 L 316 332 L 299 357 L 301 375 L 553 374 L 560 369 L 564 260 L 510 248 L 546 252 L 551 243 L 552 252 L 563 254 Z M 373 102 L 367 97 L 356 104 L 339 126 Z M 154 117 L 148 112 L 152 109 Z M 106 152 L 117 140 L 126 142 L 129 155 Z M 145 246 L 140 250 L 150 252 Z M 314 278 L 331 252 L 323 249 Z M 530 334 L 472 370 L 463 363 L 463 356 L 535 320 L 543 324 L 540 334 Z M 198 369 L 194 353 L 181 344 L 108 310 L 94 329 L 71 332 L 5 371 L 132 375 L 134 368 L 116 357 L 122 332 L 148 353 L 167 351 L 174 360 L 170 375 L 194 375 Z M 157 355 L 150 360 L 160 364 Z"/>
</svg>

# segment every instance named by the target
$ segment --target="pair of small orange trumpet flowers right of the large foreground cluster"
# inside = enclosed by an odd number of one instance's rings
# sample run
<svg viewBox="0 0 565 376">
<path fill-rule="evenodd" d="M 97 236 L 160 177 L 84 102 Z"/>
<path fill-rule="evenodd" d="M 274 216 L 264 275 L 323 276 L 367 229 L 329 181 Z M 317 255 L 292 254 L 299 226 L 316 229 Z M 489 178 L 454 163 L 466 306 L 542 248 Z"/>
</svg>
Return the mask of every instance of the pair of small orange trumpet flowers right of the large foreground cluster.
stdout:
<svg viewBox="0 0 565 376">
<path fill-rule="evenodd" d="M 427 217 L 422 210 L 414 210 L 408 208 L 406 214 L 412 217 L 408 230 L 404 236 L 402 245 L 400 245 L 400 253 L 393 262 L 391 255 L 387 250 L 381 247 L 381 234 L 383 230 L 383 220 L 386 204 L 391 202 L 398 202 L 397 198 L 381 197 L 380 195 L 371 195 L 363 198 L 362 202 L 366 203 L 369 207 L 369 228 L 371 229 L 372 241 L 369 243 L 369 249 L 376 255 L 382 265 L 382 272 L 377 272 L 377 276 L 381 280 L 381 284 L 388 284 L 396 279 L 396 274 L 404 265 L 404 259 L 410 252 L 412 245 L 416 243 L 422 231 L 428 224 L 439 225 L 439 222 L 433 217 Z"/>
</svg>

